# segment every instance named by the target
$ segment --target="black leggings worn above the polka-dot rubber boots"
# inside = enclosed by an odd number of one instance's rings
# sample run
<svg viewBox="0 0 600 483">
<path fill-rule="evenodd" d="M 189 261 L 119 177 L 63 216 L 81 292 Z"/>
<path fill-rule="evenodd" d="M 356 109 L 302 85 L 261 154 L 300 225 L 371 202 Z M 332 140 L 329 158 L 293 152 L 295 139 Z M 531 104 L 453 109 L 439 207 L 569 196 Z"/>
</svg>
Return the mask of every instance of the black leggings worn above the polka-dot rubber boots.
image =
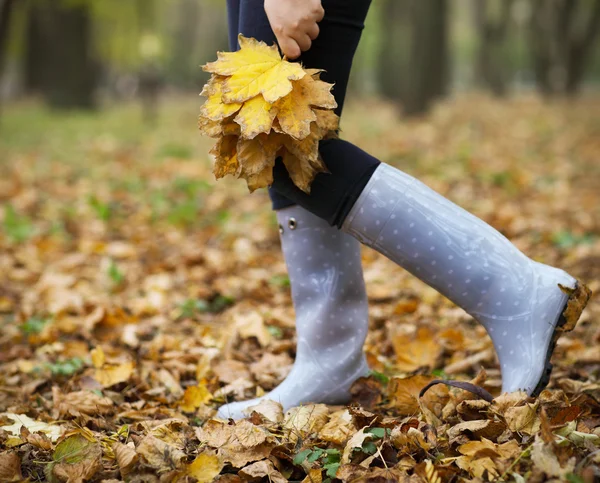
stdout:
<svg viewBox="0 0 600 483">
<path fill-rule="evenodd" d="M 370 4 L 371 0 L 323 0 L 325 17 L 319 24 L 319 37 L 298 59 L 304 67 L 325 70 L 321 78 L 335 84 L 338 115 L 342 113 L 352 59 Z M 232 50 L 238 48 L 238 33 L 269 45 L 275 42 L 264 0 L 227 0 L 227 11 Z M 310 195 L 294 185 L 282 160 L 276 160 L 274 182 L 269 188 L 273 209 L 298 204 L 330 225 L 341 227 L 379 161 L 341 139 L 321 141 L 319 151 L 330 173 L 315 177 Z"/>
</svg>

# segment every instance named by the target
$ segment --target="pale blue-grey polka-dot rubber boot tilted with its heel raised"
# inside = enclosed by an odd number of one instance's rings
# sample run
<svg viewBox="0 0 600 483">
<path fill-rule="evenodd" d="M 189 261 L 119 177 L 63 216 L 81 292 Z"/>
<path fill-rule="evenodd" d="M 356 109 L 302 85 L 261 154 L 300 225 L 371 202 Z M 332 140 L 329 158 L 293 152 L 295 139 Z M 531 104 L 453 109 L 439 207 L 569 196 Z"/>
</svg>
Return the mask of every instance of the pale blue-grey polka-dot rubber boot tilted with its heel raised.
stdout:
<svg viewBox="0 0 600 483">
<path fill-rule="evenodd" d="M 342 230 L 483 324 L 503 392 L 537 395 L 546 386 L 569 298 L 558 284 L 575 288 L 573 277 L 531 260 L 483 220 L 389 165 L 377 168 Z"/>
</svg>

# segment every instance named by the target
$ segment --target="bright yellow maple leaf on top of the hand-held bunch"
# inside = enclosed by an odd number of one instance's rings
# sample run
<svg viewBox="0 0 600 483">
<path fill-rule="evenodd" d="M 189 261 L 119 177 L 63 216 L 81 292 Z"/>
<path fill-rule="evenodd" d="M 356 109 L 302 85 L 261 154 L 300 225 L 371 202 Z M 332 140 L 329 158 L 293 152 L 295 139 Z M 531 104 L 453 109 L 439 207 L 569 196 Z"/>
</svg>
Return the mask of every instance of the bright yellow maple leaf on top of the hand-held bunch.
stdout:
<svg viewBox="0 0 600 483">
<path fill-rule="evenodd" d="M 238 37 L 240 50 L 219 52 L 218 60 L 204 70 L 230 76 L 223 86 L 223 102 L 244 102 L 262 94 L 272 104 L 292 90 L 292 80 L 306 75 L 300 64 L 284 60 L 275 45 L 268 46 L 243 35 Z"/>
</svg>

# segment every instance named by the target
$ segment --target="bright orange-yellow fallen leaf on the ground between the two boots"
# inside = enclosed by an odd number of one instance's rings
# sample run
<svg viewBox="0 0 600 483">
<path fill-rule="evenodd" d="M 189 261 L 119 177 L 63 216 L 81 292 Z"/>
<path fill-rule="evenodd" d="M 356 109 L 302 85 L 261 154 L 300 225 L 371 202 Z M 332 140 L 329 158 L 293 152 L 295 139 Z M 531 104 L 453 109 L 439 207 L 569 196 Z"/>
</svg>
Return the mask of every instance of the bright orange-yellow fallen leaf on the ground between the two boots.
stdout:
<svg viewBox="0 0 600 483">
<path fill-rule="evenodd" d="M 429 327 L 419 327 L 413 334 L 396 334 L 392 337 L 399 370 L 412 372 L 421 367 L 434 368 L 442 347 L 435 332 Z"/>
</svg>

